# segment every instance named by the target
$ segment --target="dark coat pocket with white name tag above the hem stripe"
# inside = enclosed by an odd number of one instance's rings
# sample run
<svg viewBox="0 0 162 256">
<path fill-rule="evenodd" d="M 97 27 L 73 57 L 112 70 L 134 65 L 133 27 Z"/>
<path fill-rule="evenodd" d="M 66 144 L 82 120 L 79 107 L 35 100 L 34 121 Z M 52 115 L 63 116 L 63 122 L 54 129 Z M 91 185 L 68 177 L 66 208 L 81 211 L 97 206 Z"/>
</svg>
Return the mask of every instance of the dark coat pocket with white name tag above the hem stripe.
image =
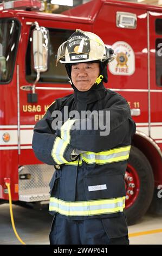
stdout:
<svg viewBox="0 0 162 256">
<path fill-rule="evenodd" d="M 87 200 L 124 197 L 125 182 L 123 175 L 93 175 L 84 179 Z"/>
</svg>

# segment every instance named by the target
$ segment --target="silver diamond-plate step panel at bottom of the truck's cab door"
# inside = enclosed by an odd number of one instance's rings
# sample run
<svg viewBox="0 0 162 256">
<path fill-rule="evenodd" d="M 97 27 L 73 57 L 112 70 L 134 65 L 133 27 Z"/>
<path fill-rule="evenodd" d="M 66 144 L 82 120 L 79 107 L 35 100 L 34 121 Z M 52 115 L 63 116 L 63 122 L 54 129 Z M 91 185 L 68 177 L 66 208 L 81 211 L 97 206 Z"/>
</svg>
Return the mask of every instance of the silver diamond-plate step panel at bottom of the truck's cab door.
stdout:
<svg viewBox="0 0 162 256">
<path fill-rule="evenodd" d="M 22 169 L 22 170 L 21 170 Z M 31 164 L 20 168 L 19 199 L 24 202 L 49 200 L 49 182 L 54 166 Z"/>
</svg>

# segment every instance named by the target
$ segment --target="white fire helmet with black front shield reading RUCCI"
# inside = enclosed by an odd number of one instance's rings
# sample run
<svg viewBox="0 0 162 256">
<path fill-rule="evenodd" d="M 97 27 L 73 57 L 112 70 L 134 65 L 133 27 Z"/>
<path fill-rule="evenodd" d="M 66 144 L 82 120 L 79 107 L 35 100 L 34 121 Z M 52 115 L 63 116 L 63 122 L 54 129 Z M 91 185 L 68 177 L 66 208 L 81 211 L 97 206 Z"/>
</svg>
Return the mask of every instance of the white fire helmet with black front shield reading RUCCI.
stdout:
<svg viewBox="0 0 162 256">
<path fill-rule="evenodd" d="M 111 62 L 113 59 L 113 49 L 107 48 L 98 35 L 76 29 L 70 38 L 60 45 L 57 51 L 56 65 L 59 61 L 64 64 L 72 64 L 95 60 Z"/>
</svg>

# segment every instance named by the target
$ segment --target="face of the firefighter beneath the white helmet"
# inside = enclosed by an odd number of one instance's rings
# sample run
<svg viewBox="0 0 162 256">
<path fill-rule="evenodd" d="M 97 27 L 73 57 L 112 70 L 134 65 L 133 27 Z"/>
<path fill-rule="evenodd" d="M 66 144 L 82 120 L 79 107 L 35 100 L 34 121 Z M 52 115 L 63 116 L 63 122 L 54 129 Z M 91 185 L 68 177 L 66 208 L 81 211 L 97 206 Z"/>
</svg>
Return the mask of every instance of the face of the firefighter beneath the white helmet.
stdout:
<svg viewBox="0 0 162 256">
<path fill-rule="evenodd" d="M 76 63 L 72 65 L 72 82 L 77 90 L 86 92 L 100 75 L 99 63 Z"/>
</svg>

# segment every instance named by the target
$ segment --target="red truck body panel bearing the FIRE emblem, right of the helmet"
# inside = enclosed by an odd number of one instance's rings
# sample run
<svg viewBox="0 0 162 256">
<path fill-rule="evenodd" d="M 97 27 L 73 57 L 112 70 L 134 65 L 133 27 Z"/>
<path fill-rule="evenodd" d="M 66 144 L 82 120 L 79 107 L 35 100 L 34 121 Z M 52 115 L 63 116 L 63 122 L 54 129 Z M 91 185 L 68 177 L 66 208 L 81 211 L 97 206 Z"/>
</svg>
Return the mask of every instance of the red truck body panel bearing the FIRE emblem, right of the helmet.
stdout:
<svg viewBox="0 0 162 256">
<path fill-rule="evenodd" d="M 116 54 L 108 65 L 107 87 L 126 98 L 137 114 L 133 119 L 141 127 L 140 123 L 148 123 L 146 10 L 136 8 L 135 4 L 104 2 L 93 32 L 111 45 Z"/>
</svg>

